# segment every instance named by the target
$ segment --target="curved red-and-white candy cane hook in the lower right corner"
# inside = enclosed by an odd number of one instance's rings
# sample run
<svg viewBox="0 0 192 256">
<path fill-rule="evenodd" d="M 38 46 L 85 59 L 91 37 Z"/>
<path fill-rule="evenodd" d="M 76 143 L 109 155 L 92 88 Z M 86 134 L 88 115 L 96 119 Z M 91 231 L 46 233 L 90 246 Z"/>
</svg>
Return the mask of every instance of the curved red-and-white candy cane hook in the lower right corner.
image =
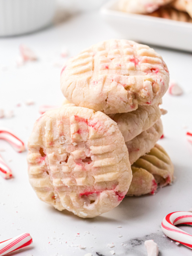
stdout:
<svg viewBox="0 0 192 256">
<path fill-rule="evenodd" d="M 175 227 L 175 225 L 192 225 L 191 212 L 172 212 L 164 217 L 161 228 L 163 233 L 171 239 L 192 249 L 192 235 Z"/>
</svg>

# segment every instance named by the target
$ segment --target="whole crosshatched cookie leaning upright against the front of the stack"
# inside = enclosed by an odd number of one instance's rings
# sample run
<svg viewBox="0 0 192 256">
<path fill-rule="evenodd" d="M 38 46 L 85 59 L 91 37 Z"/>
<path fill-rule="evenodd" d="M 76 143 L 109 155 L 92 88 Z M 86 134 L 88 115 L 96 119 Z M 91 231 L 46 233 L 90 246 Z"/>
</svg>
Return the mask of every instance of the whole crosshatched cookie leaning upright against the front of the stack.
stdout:
<svg viewBox="0 0 192 256">
<path fill-rule="evenodd" d="M 124 138 L 102 112 L 46 111 L 28 140 L 29 181 L 43 201 L 82 218 L 116 207 L 132 180 Z"/>
</svg>

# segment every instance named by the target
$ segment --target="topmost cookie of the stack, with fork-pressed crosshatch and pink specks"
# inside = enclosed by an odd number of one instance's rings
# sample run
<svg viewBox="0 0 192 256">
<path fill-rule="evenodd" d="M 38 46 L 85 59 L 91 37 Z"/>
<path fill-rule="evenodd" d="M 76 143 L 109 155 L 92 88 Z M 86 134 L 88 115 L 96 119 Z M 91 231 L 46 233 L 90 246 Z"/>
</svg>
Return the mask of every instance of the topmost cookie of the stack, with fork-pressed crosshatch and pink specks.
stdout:
<svg viewBox="0 0 192 256">
<path fill-rule="evenodd" d="M 147 45 L 111 39 L 68 60 L 61 91 L 76 106 L 126 113 L 158 102 L 169 86 L 162 57 Z"/>
</svg>

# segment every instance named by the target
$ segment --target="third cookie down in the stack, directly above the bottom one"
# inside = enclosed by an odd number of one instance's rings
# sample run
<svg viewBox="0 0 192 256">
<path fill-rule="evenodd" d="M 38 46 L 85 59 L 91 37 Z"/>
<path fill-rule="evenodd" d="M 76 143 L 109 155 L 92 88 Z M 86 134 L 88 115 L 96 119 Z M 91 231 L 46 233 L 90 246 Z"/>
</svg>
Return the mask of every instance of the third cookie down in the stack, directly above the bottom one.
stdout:
<svg viewBox="0 0 192 256">
<path fill-rule="evenodd" d="M 163 125 L 159 119 L 148 130 L 141 132 L 134 139 L 125 142 L 128 152 L 129 161 L 133 164 L 138 158 L 148 153 L 163 135 Z"/>
</svg>

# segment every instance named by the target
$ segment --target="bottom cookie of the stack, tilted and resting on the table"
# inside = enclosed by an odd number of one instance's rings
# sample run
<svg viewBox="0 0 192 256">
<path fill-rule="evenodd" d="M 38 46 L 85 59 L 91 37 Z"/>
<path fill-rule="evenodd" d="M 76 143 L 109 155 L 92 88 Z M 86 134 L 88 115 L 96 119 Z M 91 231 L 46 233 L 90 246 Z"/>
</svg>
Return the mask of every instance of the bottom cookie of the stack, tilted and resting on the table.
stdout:
<svg viewBox="0 0 192 256">
<path fill-rule="evenodd" d="M 157 187 L 173 181 L 174 167 L 164 148 L 156 144 L 132 165 L 132 182 L 126 196 L 154 194 Z"/>
</svg>

